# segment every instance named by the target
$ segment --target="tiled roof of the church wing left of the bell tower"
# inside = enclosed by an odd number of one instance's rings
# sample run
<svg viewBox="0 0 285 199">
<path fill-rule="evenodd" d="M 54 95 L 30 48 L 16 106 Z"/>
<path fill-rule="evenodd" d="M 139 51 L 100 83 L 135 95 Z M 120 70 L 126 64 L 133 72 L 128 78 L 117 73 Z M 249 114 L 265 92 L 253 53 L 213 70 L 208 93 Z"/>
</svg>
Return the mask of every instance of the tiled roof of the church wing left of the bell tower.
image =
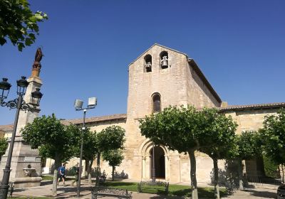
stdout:
<svg viewBox="0 0 285 199">
<path fill-rule="evenodd" d="M 101 117 L 88 117 L 86 118 L 85 122 L 86 123 L 91 123 L 91 122 L 105 122 L 105 121 L 111 121 L 115 119 L 127 119 L 127 114 L 111 114 L 111 115 L 106 115 L 106 116 L 101 116 Z M 82 124 L 83 123 L 83 118 L 81 119 L 65 119 L 61 120 L 61 124 Z"/>
</svg>

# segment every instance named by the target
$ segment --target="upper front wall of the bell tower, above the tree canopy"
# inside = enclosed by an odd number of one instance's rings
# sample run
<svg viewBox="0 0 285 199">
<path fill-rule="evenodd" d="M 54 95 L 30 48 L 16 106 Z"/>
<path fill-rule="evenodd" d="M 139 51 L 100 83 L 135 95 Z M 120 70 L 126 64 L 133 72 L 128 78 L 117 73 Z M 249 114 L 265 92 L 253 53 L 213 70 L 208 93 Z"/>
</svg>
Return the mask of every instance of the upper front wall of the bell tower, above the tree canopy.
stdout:
<svg viewBox="0 0 285 199">
<path fill-rule="evenodd" d="M 168 68 L 160 67 L 160 53 L 168 53 Z M 152 56 L 152 72 L 145 71 L 145 55 Z M 128 119 L 152 113 L 152 95 L 161 95 L 161 108 L 187 104 L 186 55 L 154 45 L 129 65 Z"/>
</svg>

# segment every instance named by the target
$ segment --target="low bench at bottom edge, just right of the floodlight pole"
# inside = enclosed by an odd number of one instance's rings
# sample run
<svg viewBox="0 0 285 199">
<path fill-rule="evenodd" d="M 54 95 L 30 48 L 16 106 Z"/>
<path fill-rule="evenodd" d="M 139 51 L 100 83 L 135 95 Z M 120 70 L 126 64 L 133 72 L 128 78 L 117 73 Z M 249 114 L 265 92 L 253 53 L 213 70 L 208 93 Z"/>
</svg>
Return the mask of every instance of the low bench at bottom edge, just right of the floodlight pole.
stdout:
<svg viewBox="0 0 285 199">
<path fill-rule="evenodd" d="M 132 198 L 132 192 L 120 188 L 110 188 L 105 186 L 95 186 L 91 189 L 91 198 L 97 199 L 98 195 L 113 196 L 118 198 Z"/>
</svg>

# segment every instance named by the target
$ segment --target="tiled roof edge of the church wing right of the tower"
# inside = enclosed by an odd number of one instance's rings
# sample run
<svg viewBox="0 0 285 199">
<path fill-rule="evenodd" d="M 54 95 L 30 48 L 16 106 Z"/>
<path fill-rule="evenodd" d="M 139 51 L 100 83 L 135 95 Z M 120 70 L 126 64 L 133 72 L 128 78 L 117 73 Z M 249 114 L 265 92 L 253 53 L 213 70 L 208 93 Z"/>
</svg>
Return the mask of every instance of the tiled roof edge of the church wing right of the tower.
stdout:
<svg viewBox="0 0 285 199">
<path fill-rule="evenodd" d="M 269 104 L 250 104 L 250 105 L 229 105 L 228 107 L 219 107 L 221 112 L 234 111 L 242 109 L 273 109 L 285 107 L 285 102 L 269 103 Z"/>
</svg>

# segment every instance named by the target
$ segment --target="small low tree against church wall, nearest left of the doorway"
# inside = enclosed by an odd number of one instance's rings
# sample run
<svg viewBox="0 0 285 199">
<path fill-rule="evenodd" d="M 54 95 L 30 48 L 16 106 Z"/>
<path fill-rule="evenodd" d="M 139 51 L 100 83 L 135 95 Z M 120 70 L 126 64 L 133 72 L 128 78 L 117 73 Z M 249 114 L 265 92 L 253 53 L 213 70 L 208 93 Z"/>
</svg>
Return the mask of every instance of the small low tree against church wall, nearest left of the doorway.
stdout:
<svg viewBox="0 0 285 199">
<path fill-rule="evenodd" d="M 102 154 L 105 161 L 109 162 L 109 166 L 112 166 L 112 181 L 114 181 L 114 173 L 115 173 L 115 167 L 120 166 L 120 163 L 122 163 L 124 156 L 121 150 L 110 150 L 110 151 L 104 151 Z"/>
</svg>

